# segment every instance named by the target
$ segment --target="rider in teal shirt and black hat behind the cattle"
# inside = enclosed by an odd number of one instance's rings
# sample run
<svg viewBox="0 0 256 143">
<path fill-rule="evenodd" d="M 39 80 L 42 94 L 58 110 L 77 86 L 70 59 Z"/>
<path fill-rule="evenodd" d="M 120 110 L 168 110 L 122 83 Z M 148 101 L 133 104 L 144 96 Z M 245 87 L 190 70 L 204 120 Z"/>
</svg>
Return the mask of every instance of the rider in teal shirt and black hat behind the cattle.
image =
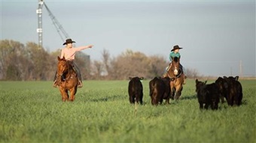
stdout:
<svg viewBox="0 0 256 143">
<path fill-rule="evenodd" d="M 173 49 L 169 53 L 169 60 L 171 61 L 171 63 L 169 64 L 169 67 L 167 67 L 166 73 L 163 76 L 167 76 L 167 72 L 168 72 L 169 68 L 171 67 L 173 58 L 175 58 L 175 57 L 181 58 L 181 54 L 178 52 L 179 49 L 182 49 L 182 48 L 179 47 L 178 45 L 173 46 Z M 180 66 L 180 69 L 181 69 L 181 73 L 183 73 L 183 76 L 184 76 L 184 83 L 183 84 L 185 84 L 186 76 L 184 74 L 184 69 L 183 69 L 183 66 L 181 64 L 179 64 L 179 66 Z"/>
</svg>

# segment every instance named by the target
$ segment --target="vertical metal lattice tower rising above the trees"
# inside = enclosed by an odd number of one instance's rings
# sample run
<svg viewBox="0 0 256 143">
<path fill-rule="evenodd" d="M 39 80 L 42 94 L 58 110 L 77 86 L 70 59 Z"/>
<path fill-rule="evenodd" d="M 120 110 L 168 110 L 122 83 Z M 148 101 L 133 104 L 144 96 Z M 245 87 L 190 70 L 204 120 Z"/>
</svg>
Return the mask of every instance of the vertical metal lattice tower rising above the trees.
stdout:
<svg viewBox="0 0 256 143">
<path fill-rule="evenodd" d="M 38 32 L 38 45 L 40 49 L 43 47 L 43 6 L 44 1 L 38 0 L 38 9 L 36 10 L 36 13 L 38 14 L 38 28 L 36 31 Z"/>
</svg>

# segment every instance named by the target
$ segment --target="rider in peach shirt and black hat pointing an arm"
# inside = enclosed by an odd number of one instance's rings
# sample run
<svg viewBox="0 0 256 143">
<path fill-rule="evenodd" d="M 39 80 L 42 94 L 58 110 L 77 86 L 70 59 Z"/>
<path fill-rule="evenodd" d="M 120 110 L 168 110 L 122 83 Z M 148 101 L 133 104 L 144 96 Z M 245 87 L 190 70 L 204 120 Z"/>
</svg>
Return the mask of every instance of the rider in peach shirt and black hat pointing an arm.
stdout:
<svg viewBox="0 0 256 143">
<path fill-rule="evenodd" d="M 78 88 L 83 87 L 82 84 L 82 77 L 81 77 L 81 72 L 77 66 L 77 64 L 75 64 L 74 60 L 75 60 L 75 52 L 81 51 L 83 49 L 88 49 L 88 48 L 92 48 L 93 45 L 88 45 L 88 46 L 80 46 L 77 48 L 73 48 L 73 44 L 75 43 L 75 41 L 73 41 L 72 39 L 67 39 L 65 43 L 63 43 L 63 45 L 66 45 L 65 48 L 63 48 L 61 50 L 61 55 L 60 58 L 65 58 L 67 61 L 70 61 L 70 63 L 72 64 L 75 72 L 78 74 Z M 54 80 L 53 80 L 53 87 L 56 88 L 57 86 L 57 82 L 56 82 L 56 73 L 54 76 Z"/>
</svg>

